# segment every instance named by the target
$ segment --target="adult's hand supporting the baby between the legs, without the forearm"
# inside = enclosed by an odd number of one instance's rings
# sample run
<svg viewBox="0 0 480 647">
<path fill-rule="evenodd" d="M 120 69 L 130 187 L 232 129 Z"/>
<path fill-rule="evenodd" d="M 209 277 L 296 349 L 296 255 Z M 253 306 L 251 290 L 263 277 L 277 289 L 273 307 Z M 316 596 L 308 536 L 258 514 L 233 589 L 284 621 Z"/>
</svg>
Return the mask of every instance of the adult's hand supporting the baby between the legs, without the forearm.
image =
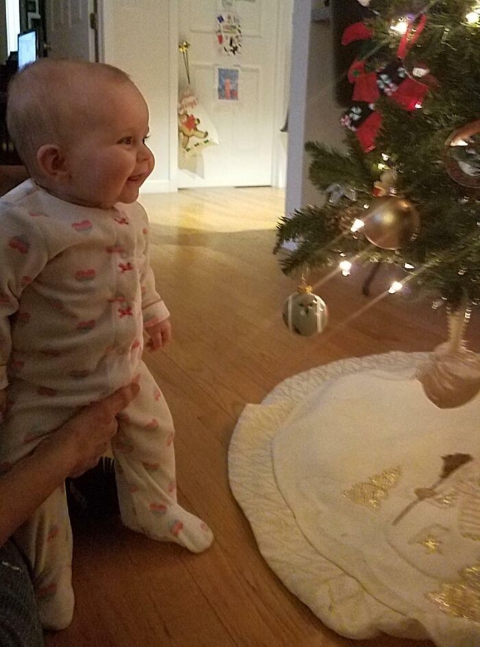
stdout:
<svg viewBox="0 0 480 647">
<path fill-rule="evenodd" d="M 112 393 L 104 400 L 85 407 L 72 416 L 45 443 L 55 443 L 64 448 L 67 475 L 80 476 L 95 467 L 99 458 L 108 449 L 108 442 L 117 433 L 117 414 L 139 392 L 138 384 L 129 384 Z"/>
</svg>

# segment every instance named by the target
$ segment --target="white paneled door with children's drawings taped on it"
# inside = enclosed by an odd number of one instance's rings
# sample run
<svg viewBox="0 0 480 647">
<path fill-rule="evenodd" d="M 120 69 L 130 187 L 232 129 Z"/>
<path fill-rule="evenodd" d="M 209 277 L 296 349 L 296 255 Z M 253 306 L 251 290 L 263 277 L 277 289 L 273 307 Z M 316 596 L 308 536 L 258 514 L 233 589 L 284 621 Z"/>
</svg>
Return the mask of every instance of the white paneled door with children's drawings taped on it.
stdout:
<svg viewBox="0 0 480 647">
<path fill-rule="evenodd" d="M 179 42 L 190 43 L 191 86 L 219 137 L 219 145 L 204 148 L 200 155 L 185 160 L 180 154 L 179 188 L 272 184 L 276 139 L 286 137 L 279 132 L 285 120 L 284 97 L 279 97 L 285 94 L 285 41 L 278 42 L 282 3 L 178 0 Z M 217 15 L 232 10 L 242 30 L 239 56 L 222 54 L 215 36 Z M 178 61 L 182 89 L 187 78 L 180 54 Z M 238 100 L 218 98 L 219 68 L 238 69 Z"/>
</svg>

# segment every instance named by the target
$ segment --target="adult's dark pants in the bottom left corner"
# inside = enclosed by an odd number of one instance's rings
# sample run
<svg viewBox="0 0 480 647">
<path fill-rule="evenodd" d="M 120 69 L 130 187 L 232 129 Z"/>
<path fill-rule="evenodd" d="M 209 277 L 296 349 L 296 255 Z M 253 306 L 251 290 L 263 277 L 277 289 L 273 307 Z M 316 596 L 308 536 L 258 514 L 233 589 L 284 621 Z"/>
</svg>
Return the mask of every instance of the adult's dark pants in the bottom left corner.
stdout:
<svg viewBox="0 0 480 647">
<path fill-rule="evenodd" d="M 12 541 L 0 547 L 0 647 L 43 647 L 32 580 Z"/>
</svg>

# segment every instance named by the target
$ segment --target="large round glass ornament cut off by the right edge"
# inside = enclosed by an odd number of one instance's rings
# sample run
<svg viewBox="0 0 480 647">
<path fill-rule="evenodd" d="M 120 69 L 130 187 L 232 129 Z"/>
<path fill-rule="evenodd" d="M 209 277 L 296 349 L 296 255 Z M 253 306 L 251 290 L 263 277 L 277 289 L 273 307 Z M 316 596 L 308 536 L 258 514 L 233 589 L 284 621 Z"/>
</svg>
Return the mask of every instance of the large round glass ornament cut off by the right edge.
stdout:
<svg viewBox="0 0 480 647">
<path fill-rule="evenodd" d="M 446 172 L 462 187 L 480 194 L 480 121 L 455 130 L 445 142 Z"/>
</svg>

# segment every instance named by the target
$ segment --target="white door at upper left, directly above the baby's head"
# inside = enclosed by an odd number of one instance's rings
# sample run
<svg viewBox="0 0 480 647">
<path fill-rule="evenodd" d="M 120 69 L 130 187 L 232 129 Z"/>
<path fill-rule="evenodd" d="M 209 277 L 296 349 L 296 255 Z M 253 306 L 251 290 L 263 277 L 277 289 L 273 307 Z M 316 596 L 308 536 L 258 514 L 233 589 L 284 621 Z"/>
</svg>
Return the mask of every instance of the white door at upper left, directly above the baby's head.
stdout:
<svg viewBox="0 0 480 647">
<path fill-rule="evenodd" d="M 96 60 L 94 0 L 46 0 L 45 12 L 48 56 Z"/>
</svg>

